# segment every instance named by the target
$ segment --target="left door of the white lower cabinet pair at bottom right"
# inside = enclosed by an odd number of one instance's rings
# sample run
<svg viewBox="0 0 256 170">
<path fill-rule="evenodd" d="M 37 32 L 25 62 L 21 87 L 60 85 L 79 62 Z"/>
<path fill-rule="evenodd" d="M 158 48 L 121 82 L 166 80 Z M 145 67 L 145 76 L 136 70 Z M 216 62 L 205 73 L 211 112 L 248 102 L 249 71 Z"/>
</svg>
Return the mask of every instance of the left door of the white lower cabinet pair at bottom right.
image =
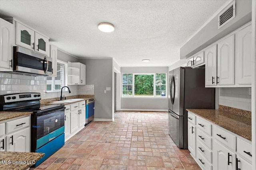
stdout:
<svg viewBox="0 0 256 170">
<path fill-rule="evenodd" d="M 214 140 L 213 155 L 214 170 L 235 170 L 236 154 L 216 140 Z"/>
</svg>

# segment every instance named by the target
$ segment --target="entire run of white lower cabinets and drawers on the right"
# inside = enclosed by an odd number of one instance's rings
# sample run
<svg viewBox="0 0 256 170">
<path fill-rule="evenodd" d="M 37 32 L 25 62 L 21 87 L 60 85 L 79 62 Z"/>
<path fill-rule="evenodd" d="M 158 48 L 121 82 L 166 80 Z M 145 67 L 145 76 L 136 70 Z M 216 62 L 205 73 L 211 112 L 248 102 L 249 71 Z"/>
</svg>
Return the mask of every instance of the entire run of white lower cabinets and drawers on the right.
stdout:
<svg viewBox="0 0 256 170">
<path fill-rule="evenodd" d="M 196 129 L 196 139 L 192 127 Z M 252 170 L 251 141 L 190 111 L 188 150 L 203 170 Z"/>
</svg>

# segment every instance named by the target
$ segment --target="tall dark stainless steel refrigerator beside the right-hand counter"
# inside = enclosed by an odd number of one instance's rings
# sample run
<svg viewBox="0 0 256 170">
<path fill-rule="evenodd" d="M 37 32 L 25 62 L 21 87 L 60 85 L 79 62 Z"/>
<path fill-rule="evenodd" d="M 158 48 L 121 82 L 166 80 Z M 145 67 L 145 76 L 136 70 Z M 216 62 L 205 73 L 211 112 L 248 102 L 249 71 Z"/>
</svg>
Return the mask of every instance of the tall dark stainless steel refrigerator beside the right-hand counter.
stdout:
<svg viewBox="0 0 256 170">
<path fill-rule="evenodd" d="M 179 67 L 169 72 L 169 134 L 179 148 L 188 149 L 188 111 L 214 109 L 215 88 L 205 88 L 205 68 Z"/>
</svg>

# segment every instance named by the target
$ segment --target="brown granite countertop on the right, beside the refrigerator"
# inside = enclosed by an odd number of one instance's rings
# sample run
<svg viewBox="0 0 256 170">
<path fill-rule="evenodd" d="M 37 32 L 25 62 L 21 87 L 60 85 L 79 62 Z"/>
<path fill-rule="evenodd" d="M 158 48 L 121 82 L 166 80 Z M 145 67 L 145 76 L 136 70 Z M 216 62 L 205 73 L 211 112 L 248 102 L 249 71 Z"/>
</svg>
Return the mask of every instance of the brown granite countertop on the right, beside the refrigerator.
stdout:
<svg viewBox="0 0 256 170">
<path fill-rule="evenodd" d="M 252 141 L 252 119 L 233 112 L 215 109 L 186 109 L 196 115 Z"/>
</svg>

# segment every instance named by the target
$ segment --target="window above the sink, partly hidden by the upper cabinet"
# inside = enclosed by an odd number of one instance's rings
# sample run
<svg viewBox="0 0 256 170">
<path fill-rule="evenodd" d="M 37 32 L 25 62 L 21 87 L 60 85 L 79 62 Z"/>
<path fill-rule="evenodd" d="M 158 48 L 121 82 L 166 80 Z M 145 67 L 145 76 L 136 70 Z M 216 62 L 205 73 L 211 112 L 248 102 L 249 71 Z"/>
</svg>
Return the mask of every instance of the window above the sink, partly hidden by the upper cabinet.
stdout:
<svg viewBox="0 0 256 170">
<path fill-rule="evenodd" d="M 57 77 L 46 78 L 46 91 L 58 91 L 63 86 L 66 86 L 65 80 L 65 68 L 66 63 L 62 63 L 61 61 L 57 61 Z"/>
</svg>

